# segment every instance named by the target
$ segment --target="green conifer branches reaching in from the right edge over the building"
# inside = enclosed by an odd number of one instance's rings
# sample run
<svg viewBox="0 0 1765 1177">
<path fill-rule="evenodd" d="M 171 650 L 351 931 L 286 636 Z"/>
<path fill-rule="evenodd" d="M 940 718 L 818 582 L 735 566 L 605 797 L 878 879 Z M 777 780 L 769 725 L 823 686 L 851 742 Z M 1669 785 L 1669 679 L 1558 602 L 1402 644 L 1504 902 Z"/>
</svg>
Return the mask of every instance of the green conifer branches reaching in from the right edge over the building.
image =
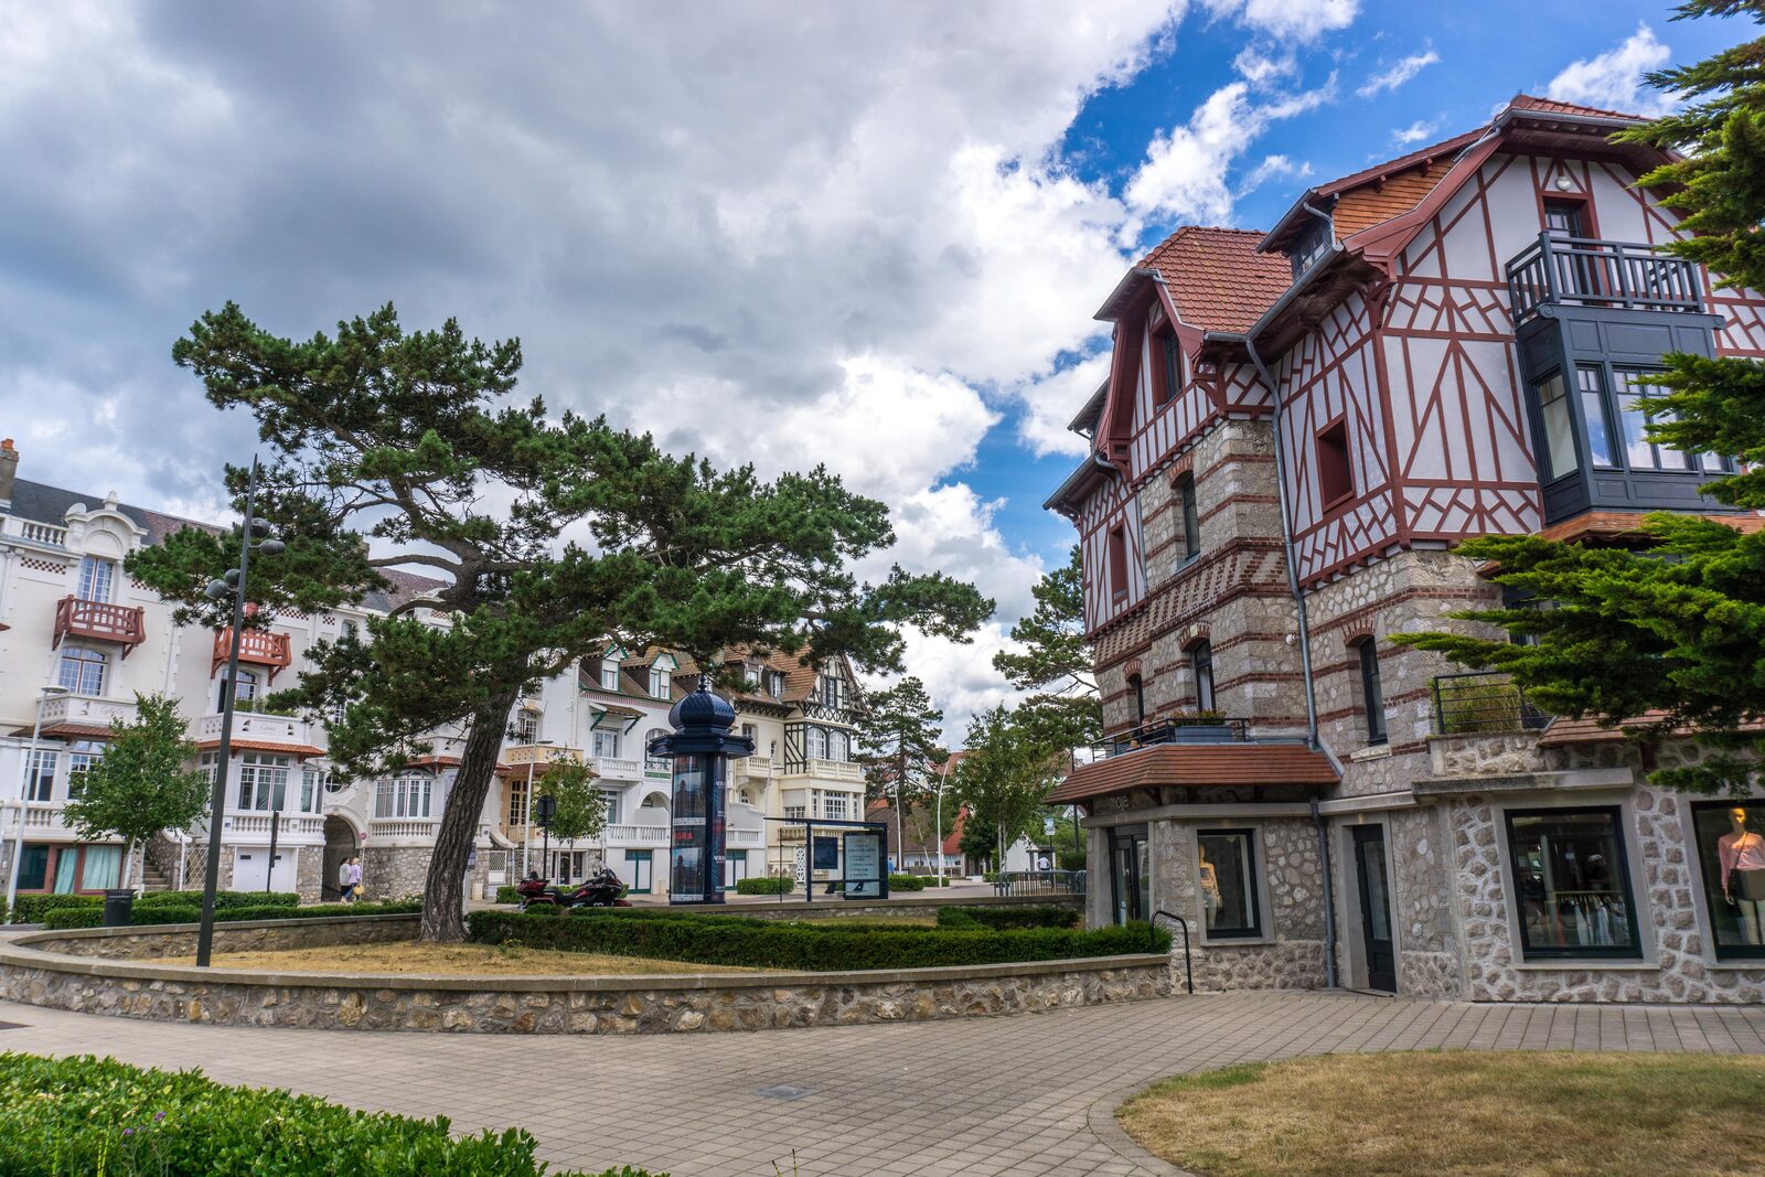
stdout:
<svg viewBox="0 0 1765 1177">
<path fill-rule="evenodd" d="M 1693 0 L 1679 18 L 1749 14 L 1751 0 Z M 1661 249 L 1709 265 L 1730 286 L 1765 288 L 1765 39 L 1696 65 L 1650 74 L 1691 104 L 1622 138 L 1686 155 L 1641 184 L 1684 214 L 1696 236 Z M 1744 358 L 1664 356 L 1649 436 L 1686 454 L 1742 459 L 1705 492 L 1765 510 L 1765 367 Z M 1592 547 L 1537 536 L 1484 536 L 1458 551 L 1493 561 L 1493 579 L 1541 607 L 1454 614 L 1495 626 L 1412 633 L 1396 641 L 1454 662 L 1513 674 L 1541 706 L 1624 723 L 1643 739 L 1694 731 L 1698 764 L 1656 768 L 1649 780 L 1693 792 L 1746 791 L 1765 738 L 1765 533 L 1716 519 L 1649 515 L 1647 547 Z M 1536 644 L 1514 644 L 1507 633 Z M 1626 723 L 1640 720 L 1645 723 Z"/>
</svg>

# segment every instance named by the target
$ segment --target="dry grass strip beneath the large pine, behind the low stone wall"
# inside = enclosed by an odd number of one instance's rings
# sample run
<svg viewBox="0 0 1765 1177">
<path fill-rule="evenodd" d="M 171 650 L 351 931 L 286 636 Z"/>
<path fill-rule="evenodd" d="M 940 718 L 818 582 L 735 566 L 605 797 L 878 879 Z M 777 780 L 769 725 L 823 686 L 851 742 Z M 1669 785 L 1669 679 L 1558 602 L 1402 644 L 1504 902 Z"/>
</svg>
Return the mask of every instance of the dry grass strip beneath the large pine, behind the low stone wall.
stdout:
<svg viewBox="0 0 1765 1177">
<path fill-rule="evenodd" d="M 154 963 L 194 965 L 194 956 Z M 275 972 L 411 972 L 459 976 L 646 976 L 655 972 L 764 972 L 732 965 L 695 965 L 642 956 L 598 956 L 544 948 L 499 944 L 339 944 L 293 948 L 281 953 L 215 953 L 217 969 L 268 969 Z"/>
</svg>

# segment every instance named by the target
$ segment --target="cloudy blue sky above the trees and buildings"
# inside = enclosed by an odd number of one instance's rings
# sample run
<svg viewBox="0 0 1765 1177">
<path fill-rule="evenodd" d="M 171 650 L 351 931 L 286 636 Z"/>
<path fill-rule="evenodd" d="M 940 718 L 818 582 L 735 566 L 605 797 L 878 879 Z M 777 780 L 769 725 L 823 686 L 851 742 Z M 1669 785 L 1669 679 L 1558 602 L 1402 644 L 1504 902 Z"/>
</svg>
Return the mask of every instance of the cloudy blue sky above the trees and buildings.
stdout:
<svg viewBox="0 0 1765 1177">
<path fill-rule="evenodd" d="M 748 0 L 0 5 L 0 436 L 19 475 L 221 519 L 254 431 L 169 364 L 237 300 L 307 335 L 394 302 L 519 335 L 522 392 L 886 501 L 890 563 L 974 581 L 911 642 L 960 729 L 1071 531 L 1041 501 L 1093 311 L 1186 222 L 1518 90 L 1654 102 L 1737 41 L 1656 4 Z M 1377 81 L 1377 79 L 1384 81 Z"/>
</svg>

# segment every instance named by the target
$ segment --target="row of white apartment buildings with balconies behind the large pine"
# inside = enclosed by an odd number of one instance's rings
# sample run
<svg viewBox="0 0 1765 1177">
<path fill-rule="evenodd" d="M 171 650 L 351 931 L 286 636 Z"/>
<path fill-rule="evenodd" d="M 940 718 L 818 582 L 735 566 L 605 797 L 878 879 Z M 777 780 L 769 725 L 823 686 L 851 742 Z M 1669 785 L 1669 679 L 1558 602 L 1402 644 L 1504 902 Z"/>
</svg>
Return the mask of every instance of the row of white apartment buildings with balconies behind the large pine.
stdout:
<svg viewBox="0 0 1765 1177">
<path fill-rule="evenodd" d="M 136 693 L 176 697 L 203 762 L 214 768 L 229 633 L 173 625 L 173 607 L 122 572 L 129 552 L 199 524 L 118 503 L 115 494 L 23 480 L 18 464 L 12 443 L 0 443 L 0 875 L 11 870 L 23 821 L 19 891 L 97 891 L 116 886 L 122 847 L 81 842 L 64 821 L 81 769 L 102 755 L 111 720 L 132 718 Z M 244 635 L 221 886 L 332 898 L 339 865 L 360 854 L 371 896 L 422 889 L 459 768 L 461 732 L 438 732 L 432 753 L 395 776 L 342 780 L 327 761 L 323 723 L 254 709 L 307 667 L 314 642 L 362 626 L 434 584 L 401 574 L 388 579 L 395 584 L 390 596 L 371 595 L 360 607 L 321 616 L 277 616 L 267 630 Z M 789 656 L 748 662 L 754 690 L 736 702 L 759 752 L 731 768 L 729 886 L 748 873 L 801 870 L 801 831 L 792 843 L 791 829 L 768 817 L 860 817 L 863 810 L 863 778 L 851 759 L 858 697 L 851 669 L 842 663 L 817 674 Z M 669 766 L 650 761 L 644 748 L 667 731 L 672 701 L 695 681 L 697 672 L 672 653 L 612 649 L 522 699 L 480 815 L 473 889 L 514 882 L 530 868 L 581 879 L 605 861 L 634 891 L 665 893 Z M 39 750 L 30 757 L 39 709 Z M 591 840 L 547 847 L 544 831 L 530 824 L 530 785 L 549 759 L 561 757 L 593 766 L 607 794 L 607 828 Z M 205 845 L 205 828 L 168 833 L 141 854 L 131 877 L 194 886 Z"/>
</svg>

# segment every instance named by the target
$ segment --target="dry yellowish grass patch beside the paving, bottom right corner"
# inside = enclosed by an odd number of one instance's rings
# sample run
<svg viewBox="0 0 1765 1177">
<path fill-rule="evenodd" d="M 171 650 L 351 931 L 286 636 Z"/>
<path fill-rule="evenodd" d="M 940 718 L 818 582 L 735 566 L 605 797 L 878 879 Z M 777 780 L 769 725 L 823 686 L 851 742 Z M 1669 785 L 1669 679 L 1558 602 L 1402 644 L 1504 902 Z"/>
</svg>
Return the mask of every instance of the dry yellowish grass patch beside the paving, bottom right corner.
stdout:
<svg viewBox="0 0 1765 1177">
<path fill-rule="evenodd" d="M 1248 1062 L 1123 1105 L 1204 1177 L 1765 1173 L 1765 1057 L 1430 1052 Z"/>
</svg>

